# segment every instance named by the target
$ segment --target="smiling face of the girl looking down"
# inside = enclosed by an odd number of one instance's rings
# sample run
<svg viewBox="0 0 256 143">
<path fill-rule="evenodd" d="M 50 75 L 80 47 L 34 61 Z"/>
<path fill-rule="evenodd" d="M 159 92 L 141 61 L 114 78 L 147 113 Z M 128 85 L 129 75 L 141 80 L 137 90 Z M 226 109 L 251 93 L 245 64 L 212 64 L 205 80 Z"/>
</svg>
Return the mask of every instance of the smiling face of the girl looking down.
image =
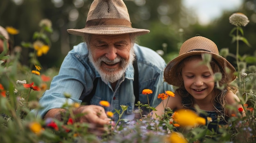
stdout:
<svg viewBox="0 0 256 143">
<path fill-rule="evenodd" d="M 209 68 L 200 62 L 201 59 L 191 59 L 184 64 L 182 68 L 184 86 L 195 101 L 211 101 L 214 78 Z"/>
</svg>

